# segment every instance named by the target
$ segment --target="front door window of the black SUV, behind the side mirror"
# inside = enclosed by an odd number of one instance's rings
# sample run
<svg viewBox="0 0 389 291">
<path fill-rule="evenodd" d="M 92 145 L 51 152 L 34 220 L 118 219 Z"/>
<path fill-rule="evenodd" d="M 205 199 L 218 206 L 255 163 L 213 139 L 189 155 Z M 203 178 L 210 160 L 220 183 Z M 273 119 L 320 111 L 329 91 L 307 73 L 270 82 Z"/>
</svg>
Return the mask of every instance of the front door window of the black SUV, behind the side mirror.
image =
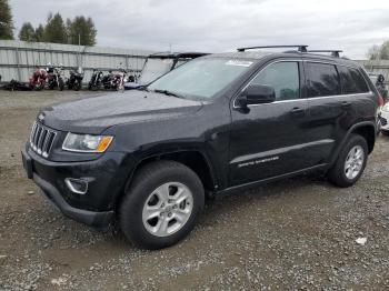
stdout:
<svg viewBox="0 0 389 291">
<path fill-rule="evenodd" d="M 275 88 L 276 100 L 300 98 L 300 77 L 298 62 L 276 62 L 267 67 L 251 81 Z"/>
</svg>

